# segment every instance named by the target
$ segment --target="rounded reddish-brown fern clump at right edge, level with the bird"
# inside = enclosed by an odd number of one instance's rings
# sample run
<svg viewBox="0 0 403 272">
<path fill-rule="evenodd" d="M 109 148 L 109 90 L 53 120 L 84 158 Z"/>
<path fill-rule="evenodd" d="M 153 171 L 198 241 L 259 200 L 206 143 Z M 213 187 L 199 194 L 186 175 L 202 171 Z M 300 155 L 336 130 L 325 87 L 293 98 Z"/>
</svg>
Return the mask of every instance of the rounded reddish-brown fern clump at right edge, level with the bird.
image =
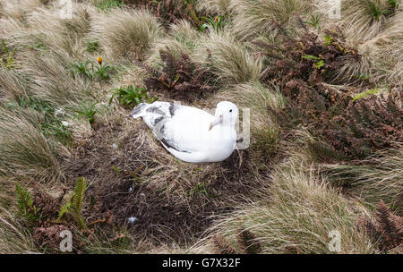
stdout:
<svg viewBox="0 0 403 272">
<path fill-rule="evenodd" d="M 324 123 L 323 135 L 330 145 L 352 157 L 367 157 L 403 140 L 402 92 L 350 102 Z"/>
</svg>

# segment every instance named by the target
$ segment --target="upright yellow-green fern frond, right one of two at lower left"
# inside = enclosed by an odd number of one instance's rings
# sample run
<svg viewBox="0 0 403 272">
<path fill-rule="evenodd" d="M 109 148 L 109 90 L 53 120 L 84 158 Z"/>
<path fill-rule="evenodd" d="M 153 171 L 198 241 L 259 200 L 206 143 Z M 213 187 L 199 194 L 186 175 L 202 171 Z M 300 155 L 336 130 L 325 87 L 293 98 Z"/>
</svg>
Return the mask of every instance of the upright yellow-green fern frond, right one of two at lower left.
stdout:
<svg viewBox="0 0 403 272">
<path fill-rule="evenodd" d="M 60 221 L 65 215 L 73 217 L 77 225 L 81 229 L 86 228 L 84 218 L 82 217 L 82 203 L 84 201 L 84 194 L 87 189 L 87 184 L 83 177 L 77 179 L 75 183 L 73 195 L 59 210 L 57 221 Z"/>
</svg>

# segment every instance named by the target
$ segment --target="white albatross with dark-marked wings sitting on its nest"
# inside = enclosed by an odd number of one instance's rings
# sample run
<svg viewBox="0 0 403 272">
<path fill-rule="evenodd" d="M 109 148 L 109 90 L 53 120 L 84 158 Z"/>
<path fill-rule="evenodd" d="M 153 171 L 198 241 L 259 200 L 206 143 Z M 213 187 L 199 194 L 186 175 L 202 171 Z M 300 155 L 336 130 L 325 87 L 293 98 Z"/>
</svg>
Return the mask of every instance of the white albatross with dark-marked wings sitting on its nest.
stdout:
<svg viewBox="0 0 403 272">
<path fill-rule="evenodd" d="M 141 103 L 130 116 L 141 117 L 165 149 L 188 163 L 223 161 L 236 147 L 238 108 L 231 102 L 219 102 L 215 115 L 170 102 Z"/>
</svg>

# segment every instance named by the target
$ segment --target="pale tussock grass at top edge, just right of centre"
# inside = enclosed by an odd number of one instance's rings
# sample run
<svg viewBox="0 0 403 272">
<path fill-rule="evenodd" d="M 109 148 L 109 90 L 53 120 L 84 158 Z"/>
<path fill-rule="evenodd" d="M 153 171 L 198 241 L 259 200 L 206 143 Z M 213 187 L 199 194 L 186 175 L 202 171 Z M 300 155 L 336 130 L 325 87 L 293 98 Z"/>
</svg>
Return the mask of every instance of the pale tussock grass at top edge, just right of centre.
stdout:
<svg viewBox="0 0 403 272">
<path fill-rule="evenodd" d="M 253 38 L 267 34 L 277 22 L 288 30 L 295 30 L 296 13 L 307 13 L 312 7 L 304 0 L 234 0 L 233 29 L 239 38 Z"/>
</svg>

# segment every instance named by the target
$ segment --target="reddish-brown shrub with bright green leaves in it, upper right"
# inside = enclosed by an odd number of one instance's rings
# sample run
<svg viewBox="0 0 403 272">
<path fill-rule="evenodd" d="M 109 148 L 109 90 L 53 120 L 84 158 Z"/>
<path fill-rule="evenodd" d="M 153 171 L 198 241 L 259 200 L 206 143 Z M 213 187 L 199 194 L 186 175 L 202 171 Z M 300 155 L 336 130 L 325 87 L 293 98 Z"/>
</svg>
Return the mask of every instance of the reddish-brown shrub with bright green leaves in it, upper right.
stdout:
<svg viewBox="0 0 403 272">
<path fill-rule="evenodd" d="M 322 82 L 334 81 L 338 70 L 347 60 L 359 62 L 361 55 L 344 44 L 338 29 L 324 30 L 325 40 L 305 29 L 300 38 L 290 38 L 279 25 L 279 46 L 256 42 L 265 51 L 270 66 L 262 75 L 263 80 L 284 87 L 284 94 L 298 99 L 300 93 L 317 88 L 324 98 L 331 100 L 333 93 L 326 93 Z M 274 65 L 271 63 L 274 61 Z M 333 98 L 334 99 L 334 98 Z"/>
</svg>

